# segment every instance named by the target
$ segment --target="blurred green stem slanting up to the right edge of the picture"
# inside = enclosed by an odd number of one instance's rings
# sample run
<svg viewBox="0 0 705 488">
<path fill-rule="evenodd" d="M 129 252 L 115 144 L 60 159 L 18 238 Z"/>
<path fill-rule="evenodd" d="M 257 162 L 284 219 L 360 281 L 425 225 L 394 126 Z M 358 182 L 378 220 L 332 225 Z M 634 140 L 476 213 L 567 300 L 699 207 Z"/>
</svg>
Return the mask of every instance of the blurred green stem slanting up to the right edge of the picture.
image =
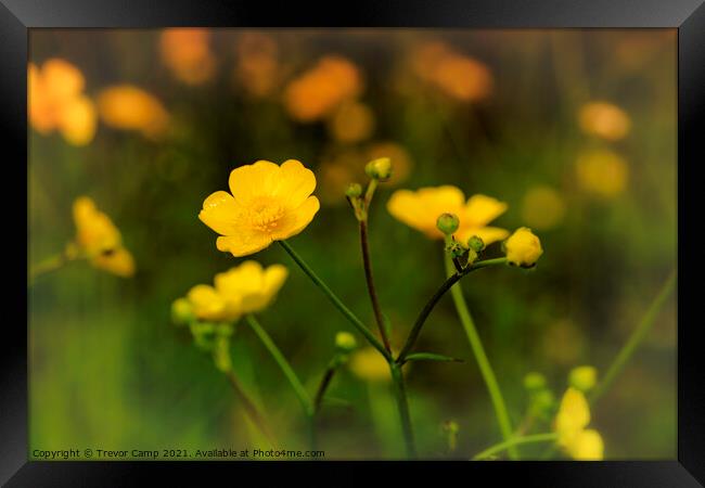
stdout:
<svg viewBox="0 0 705 488">
<path fill-rule="evenodd" d="M 666 301 L 666 298 L 668 298 L 668 296 L 675 290 L 676 281 L 677 281 L 676 270 L 674 270 L 669 274 L 664 285 L 661 287 L 661 291 L 658 292 L 654 300 L 646 309 L 646 312 L 641 318 L 639 325 L 637 325 L 637 329 L 629 337 L 629 341 L 627 341 L 627 344 L 625 344 L 625 346 L 621 348 L 616 359 L 614 360 L 614 362 L 605 373 L 604 378 L 592 390 L 592 394 L 590 395 L 589 398 L 591 404 L 594 404 L 594 402 L 597 402 L 598 399 L 602 397 L 602 395 L 604 395 L 605 391 L 612 386 L 615 378 L 619 375 L 619 373 L 621 373 L 621 370 L 624 370 L 625 364 L 633 356 L 634 351 L 637 350 L 637 347 L 639 347 L 639 345 L 644 339 L 649 331 L 651 331 L 651 328 L 653 326 L 654 322 L 656 321 L 656 318 L 658 317 L 658 311 L 661 310 L 664 303 Z"/>
</svg>

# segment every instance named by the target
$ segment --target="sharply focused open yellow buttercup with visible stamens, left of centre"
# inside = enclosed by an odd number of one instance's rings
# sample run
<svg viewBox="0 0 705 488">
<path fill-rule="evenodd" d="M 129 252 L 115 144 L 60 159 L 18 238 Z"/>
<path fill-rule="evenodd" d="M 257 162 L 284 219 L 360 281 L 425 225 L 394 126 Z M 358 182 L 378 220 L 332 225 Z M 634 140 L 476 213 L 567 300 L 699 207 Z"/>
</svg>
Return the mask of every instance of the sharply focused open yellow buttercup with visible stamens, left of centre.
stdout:
<svg viewBox="0 0 705 488">
<path fill-rule="evenodd" d="M 298 234 L 320 208 L 311 193 L 316 177 L 298 160 L 281 166 L 258 160 L 230 172 L 231 193 L 218 191 L 203 202 L 198 218 L 221 236 L 218 251 L 247 256 Z"/>
</svg>

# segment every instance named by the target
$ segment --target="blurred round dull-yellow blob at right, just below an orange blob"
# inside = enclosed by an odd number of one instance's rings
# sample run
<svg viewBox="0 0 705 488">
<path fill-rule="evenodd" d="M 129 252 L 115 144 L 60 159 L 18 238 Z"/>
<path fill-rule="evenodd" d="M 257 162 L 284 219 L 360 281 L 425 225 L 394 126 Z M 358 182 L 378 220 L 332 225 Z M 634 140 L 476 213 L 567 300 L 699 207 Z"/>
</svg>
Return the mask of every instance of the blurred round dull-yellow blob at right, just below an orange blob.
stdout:
<svg viewBox="0 0 705 488">
<path fill-rule="evenodd" d="M 582 153 L 576 162 L 578 183 L 586 191 L 601 197 L 612 197 L 627 187 L 627 162 L 610 150 Z"/>
</svg>

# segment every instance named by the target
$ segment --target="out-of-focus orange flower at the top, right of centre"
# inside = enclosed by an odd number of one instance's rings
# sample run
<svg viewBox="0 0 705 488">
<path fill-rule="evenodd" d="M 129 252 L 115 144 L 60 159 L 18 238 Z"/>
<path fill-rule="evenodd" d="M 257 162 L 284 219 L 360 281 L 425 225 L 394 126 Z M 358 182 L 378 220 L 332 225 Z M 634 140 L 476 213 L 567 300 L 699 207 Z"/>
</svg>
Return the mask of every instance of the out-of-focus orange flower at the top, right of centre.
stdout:
<svg viewBox="0 0 705 488">
<path fill-rule="evenodd" d="M 443 42 L 424 43 L 412 56 L 416 75 L 453 99 L 474 102 L 492 90 L 492 75 L 485 64 Z"/>
</svg>

